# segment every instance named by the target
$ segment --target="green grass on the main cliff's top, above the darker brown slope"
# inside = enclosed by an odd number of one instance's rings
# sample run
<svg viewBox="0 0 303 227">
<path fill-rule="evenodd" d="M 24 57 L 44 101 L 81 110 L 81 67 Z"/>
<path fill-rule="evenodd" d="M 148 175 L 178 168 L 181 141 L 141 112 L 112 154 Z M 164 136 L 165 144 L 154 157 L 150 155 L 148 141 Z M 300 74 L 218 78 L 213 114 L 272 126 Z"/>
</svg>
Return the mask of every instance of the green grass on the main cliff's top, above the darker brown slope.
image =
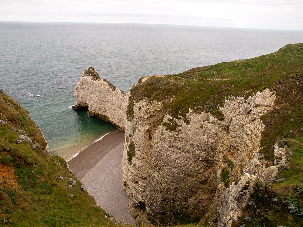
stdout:
<svg viewBox="0 0 303 227">
<path fill-rule="evenodd" d="M 226 97 L 246 99 L 257 91 L 272 88 L 285 77 L 296 74 L 302 77 L 302 47 L 301 43 L 288 44 L 257 58 L 192 68 L 174 77 L 153 76 L 133 86 L 131 96 L 134 101 L 166 100 L 168 113 L 177 119 L 182 117 L 185 123 L 189 123 L 186 119 L 189 109 L 196 113 L 211 112 L 218 120 L 224 120 L 218 107 L 224 105 Z M 128 120 L 132 118 L 133 115 Z"/>
</svg>

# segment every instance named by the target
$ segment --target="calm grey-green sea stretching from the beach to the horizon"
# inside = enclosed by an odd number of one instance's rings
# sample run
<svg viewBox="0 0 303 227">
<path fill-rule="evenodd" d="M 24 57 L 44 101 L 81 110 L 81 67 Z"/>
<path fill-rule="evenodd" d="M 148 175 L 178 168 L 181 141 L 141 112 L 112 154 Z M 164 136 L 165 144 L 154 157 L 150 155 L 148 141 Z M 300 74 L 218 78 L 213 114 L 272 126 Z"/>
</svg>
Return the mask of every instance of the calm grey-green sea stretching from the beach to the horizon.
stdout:
<svg viewBox="0 0 303 227">
<path fill-rule="evenodd" d="M 69 160 L 115 130 L 72 110 L 87 67 L 126 92 L 142 76 L 253 58 L 298 42 L 303 31 L 0 21 L 0 87 L 30 111 L 52 154 Z"/>
</svg>

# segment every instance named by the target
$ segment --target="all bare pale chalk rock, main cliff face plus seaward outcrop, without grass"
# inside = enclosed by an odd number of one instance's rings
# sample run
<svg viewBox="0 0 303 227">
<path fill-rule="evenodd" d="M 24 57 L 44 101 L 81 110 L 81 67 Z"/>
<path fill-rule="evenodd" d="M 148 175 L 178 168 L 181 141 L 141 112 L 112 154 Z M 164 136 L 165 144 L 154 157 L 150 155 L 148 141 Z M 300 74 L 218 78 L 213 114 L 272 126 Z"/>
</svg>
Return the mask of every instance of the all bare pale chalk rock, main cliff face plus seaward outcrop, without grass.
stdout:
<svg viewBox="0 0 303 227">
<path fill-rule="evenodd" d="M 257 180 L 277 172 L 259 158 L 260 118 L 274 106 L 275 91 L 264 89 L 246 100 L 226 97 L 217 105 L 221 121 L 190 109 L 188 124 L 169 115 L 166 102 L 134 100 L 130 90 L 125 94 L 91 67 L 82 73 L 75 97 L 75 109 L 88 108 L 125 130 L 123 188 L 138 225 L 216 219 L 219 226 L 230 226 Z M 169 130 L 165 122 L 176 128 Z"/>
</svg>

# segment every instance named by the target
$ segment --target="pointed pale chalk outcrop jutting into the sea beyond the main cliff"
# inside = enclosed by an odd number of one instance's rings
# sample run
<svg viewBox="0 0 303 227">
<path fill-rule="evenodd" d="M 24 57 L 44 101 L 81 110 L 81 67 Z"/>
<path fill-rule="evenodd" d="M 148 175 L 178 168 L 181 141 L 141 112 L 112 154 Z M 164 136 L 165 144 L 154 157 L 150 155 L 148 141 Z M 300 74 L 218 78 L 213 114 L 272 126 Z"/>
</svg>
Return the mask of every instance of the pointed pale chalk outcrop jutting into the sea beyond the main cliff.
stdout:
<svg viewBox="0 0 303 227">
<path fill-rule="evenodd" d="M 94 68 L 82 72 L 75 88 L 75 110 L 88 109 L 90 116 L 98 117 L 124 130 L 126 94 L 105 79 Z"/>
</svg>

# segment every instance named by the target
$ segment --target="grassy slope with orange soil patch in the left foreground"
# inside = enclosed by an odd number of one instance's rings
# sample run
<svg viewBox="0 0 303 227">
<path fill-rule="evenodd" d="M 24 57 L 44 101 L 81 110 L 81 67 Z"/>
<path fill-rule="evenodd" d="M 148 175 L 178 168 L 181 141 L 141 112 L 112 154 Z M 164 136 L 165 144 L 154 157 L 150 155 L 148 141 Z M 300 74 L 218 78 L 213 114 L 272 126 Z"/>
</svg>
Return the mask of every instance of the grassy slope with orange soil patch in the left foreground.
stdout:
<svg viewBox="0 0 303 227">
<path fill-rule="evenodd" d="M 1 90 L 0 226 L 114 226 L 28 113 Z"/>
</svg>

